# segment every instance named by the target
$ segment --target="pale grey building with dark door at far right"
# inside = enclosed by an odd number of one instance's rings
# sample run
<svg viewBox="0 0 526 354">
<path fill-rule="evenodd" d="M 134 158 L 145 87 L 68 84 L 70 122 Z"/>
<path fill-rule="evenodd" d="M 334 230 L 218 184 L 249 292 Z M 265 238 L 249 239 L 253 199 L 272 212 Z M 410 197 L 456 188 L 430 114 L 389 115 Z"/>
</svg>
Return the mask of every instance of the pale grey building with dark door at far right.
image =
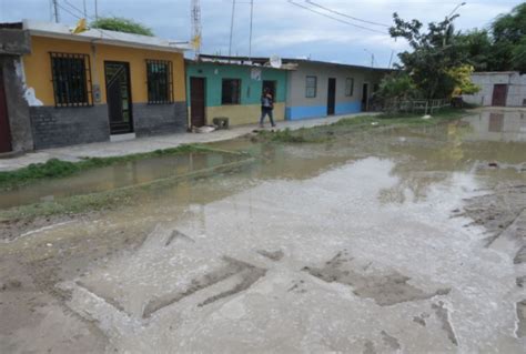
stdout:
<svg viewBox="0 0 526 354">
<path fill-rule="evenodd" d="M 477 105 L 526 107 L 526 74 L 516 71 L 475 72 L 472 81 L 481 88 L 463 100 Z"/>
</svg>

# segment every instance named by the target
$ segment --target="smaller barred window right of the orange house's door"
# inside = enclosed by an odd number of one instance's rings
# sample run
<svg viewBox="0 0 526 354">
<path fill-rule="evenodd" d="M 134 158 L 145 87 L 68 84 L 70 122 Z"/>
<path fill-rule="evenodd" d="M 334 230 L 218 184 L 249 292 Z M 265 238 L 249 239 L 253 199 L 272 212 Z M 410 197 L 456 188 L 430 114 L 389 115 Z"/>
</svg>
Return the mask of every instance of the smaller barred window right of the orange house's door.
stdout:
<svg viewBox="0 0 526 354">
<path fill-rule="evenodd" d="M 172 62 L 146 60 L 148 103 L 173 103 Z"/>
</svg>

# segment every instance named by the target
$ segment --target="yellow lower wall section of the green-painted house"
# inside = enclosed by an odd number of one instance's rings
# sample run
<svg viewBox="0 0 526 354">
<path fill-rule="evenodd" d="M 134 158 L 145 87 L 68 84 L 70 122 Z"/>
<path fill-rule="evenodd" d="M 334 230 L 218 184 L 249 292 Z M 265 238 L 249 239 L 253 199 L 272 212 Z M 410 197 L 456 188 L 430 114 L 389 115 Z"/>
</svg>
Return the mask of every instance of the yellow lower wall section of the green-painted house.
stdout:
<svg viewBox="0 0 526 354">
<path fill-rule="evenodd" d="M 229 123 L 231 125 L 256 124 L 260 122 L 261 105 L 234 104 L 208 107 L 206 124 L 212 124 L 212 120 L 216 117 L 229 118 Z M 285 103 L 274 103 L 274 121 L 283 120 L 285 120 Z M 265 123 L 269 123 L 267 117 L 265 117 Z"/>
</svg>

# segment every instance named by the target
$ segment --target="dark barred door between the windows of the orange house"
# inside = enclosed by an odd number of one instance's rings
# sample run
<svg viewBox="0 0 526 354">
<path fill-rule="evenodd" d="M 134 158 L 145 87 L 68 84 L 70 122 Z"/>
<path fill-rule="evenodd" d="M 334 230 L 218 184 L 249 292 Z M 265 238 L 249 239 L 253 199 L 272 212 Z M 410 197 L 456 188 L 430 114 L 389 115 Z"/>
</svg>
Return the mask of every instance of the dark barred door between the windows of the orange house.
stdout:
<svg viewBox="0 0 526 354">
<path fill-rule="evenodd" d="M 110 114 L 110 132 L 133 132 L 130 65 L 127 62 L 105 61 L 105 91 Z"/>
</svg>

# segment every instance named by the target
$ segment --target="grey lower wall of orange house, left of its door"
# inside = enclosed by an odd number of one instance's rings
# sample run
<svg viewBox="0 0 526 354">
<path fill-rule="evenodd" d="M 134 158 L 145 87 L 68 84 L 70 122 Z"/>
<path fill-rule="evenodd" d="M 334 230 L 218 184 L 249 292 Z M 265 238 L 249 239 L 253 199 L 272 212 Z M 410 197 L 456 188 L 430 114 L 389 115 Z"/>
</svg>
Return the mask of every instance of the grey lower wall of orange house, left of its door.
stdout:
<svg viewBox="0 0 526 354">
<path fill-rule="evenodd" d="M 82 108 L 31 107 L 34 149 L 110 140 L 108 105 Z"/>
</svg>

